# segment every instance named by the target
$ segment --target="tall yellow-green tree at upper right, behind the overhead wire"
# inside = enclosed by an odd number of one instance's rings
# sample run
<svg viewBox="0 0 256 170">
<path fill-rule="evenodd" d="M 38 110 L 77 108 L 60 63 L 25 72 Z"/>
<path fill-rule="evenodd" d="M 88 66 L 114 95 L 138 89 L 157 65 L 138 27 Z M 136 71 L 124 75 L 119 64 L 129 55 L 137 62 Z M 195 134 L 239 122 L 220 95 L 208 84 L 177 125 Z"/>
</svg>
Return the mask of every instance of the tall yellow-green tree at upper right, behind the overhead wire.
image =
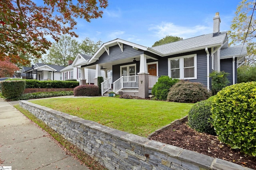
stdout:
<svg viewBox="0 0 256 170">
<path fill-rule="evenodd" d="M 256 60 L 256 15 L 252 15 L 255 8 L 255 0 L 242 0 L 236 8 L 236 16 L 233 18 L 230 26 L 231 31 L 228 31 L 231 39 L 229 45 L 246 44 L 248 56 L 246 64 L 253 64 Z"/>
</svg>

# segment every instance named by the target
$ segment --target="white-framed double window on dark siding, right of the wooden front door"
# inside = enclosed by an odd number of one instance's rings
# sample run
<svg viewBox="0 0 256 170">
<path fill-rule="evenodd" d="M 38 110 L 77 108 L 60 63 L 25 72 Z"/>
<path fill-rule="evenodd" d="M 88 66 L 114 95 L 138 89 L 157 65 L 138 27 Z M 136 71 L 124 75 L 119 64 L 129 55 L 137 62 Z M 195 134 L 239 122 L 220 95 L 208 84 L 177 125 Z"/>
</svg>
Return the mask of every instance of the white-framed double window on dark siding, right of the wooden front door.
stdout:
<svg viewBox="0 0 256 170">
<path fill-rule="evenodd" d="M 197 79 L 196 54 L 168 59 L 168 76 L 179 79 Z"/>
</svg>

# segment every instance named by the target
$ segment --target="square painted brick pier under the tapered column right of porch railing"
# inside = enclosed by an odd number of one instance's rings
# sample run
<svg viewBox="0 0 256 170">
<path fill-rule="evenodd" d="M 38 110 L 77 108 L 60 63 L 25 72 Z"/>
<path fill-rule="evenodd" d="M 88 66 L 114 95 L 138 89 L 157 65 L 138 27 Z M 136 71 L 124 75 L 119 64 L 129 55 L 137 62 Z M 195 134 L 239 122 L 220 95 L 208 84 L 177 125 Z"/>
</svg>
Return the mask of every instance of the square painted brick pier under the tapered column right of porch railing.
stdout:
<svg viewBox="0 0 256 170">
<path fill-rule="evenodd" d="M 148 98 L 148 73 L 138 73 L 138 97 Z"/>
</svg>

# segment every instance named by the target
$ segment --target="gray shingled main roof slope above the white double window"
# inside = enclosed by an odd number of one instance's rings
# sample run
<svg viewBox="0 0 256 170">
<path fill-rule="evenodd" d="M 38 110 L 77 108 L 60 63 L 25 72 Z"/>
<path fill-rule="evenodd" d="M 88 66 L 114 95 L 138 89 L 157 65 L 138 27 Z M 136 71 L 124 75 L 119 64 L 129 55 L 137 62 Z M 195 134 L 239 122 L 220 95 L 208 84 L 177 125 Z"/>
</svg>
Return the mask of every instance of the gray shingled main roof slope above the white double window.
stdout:
<svg viewBox="0 0 256 170">
<path fill-rule="evenodd" d="M 155 51 L 162 53 L 162 56 L 167 56 L 177 53 L 205 49 L 206 47 L 209 48 L 221 46 L 224 40 L 227 39 L 226 32 L 222 32 L 216 37 L 213 37 L 212 35 L 213 34 L 210 33 L 198 37 L 192 37 L 189 39 L 184 39 L 173 43 L 151 47 L 151 49 L 154 49 Z"/>
</svg>

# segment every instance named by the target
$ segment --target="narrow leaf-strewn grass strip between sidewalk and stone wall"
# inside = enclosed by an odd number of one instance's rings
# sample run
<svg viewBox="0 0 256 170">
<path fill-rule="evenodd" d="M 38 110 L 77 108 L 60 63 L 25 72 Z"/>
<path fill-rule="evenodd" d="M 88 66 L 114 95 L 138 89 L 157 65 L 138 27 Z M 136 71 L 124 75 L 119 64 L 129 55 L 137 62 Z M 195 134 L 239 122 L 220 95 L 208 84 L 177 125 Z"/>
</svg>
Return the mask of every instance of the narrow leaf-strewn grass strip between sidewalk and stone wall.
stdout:
<svg viewBox="0 0 256 170">
<path fill-rule="evenodd" d="M 80 150 L 78 147 L 70 143 L 68 140 L 66 140 L 64 137 L 56 133 L 53 129 L 48 127 L 43 121 L 36 118 L 32 113 L 27 111 L 26 109 L 23 109 L 19 105 L 15 105 L 20 112 L 22 112 L 28 119 L 32 120 L 34 123 L 36 123 L 38 126 L 40 126 L 42 129 L 44 129 L 46 132 L 48 132 L 56 141 L 58 141 L 63 147 L 65 147 L 69 152 L 74 154 L 80 161 L 82 161 L 88 168 L 92 170 L 106 170 L 104 166 L 100 165 L 99 162 L 91 158 L 88 154 Z"/>
</svg>

